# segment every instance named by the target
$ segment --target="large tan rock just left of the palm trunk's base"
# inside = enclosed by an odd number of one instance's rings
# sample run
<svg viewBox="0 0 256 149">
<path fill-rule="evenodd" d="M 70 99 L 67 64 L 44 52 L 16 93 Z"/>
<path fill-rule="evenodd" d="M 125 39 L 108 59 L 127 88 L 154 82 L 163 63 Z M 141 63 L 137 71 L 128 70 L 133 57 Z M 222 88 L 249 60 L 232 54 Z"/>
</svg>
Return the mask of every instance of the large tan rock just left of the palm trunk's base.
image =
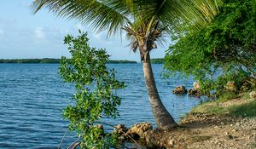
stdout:
<svg viewBox="0 0 256 149">
<path fill-rule="evenodd" d="M 151 123 L 137 123 L 126 132 L 126 135 L 130 135 L 135 140 L 144 139 L 151 130 L 153 130 Z"/>
</svg>

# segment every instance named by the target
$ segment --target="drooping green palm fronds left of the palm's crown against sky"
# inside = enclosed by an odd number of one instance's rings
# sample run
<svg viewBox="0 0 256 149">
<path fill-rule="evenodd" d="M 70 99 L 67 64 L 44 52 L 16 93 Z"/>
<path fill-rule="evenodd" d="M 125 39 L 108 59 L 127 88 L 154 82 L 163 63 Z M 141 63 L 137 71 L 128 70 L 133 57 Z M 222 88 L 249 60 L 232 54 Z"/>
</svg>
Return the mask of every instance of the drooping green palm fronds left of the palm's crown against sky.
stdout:
<svg viewBox="0 0 256 149">
<path fill-rule="evenodd" d="M 47 8 L 59 17 L 75 18 L 82 24 L 90 24 L 96 32 L 107 30 L 108 36 L 111 36 L 131 23 L 128 19 L 131 9 L 127 9 L 123 1 L 35 0 L 32 9 L 37 13 L 39 9 Z"/>
</svg>

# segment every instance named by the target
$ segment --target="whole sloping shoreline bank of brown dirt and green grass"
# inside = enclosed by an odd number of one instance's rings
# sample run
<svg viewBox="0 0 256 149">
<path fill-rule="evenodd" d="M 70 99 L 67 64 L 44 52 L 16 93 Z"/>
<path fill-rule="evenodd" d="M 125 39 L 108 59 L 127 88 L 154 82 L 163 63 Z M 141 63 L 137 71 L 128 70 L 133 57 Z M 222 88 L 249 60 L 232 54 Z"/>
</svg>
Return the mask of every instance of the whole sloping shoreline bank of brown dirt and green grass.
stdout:
<svg viewBox="0 0 256 149">
<path fill-rule="evenodd" d="M 144 133 L 148 148 L 256 148 L 256 98 L 249 93 L 207 101 L 192 109 L 173 129 Z"/>
</svg>

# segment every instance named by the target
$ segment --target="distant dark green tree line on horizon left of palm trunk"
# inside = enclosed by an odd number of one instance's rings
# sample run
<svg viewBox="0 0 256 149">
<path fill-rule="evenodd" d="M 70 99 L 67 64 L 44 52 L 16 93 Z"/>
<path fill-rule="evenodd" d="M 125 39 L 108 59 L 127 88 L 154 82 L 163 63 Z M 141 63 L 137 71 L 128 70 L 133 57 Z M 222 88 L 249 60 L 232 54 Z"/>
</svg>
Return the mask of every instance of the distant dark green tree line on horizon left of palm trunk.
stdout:
<svg viewBox="0 0 256 149">
<path fill-rule="evenodd" d="M 61 59 L 0 59 L 0 63 L 48 63 L 48 64 L 56 64 L 60 63 Z M 111 64 L 126 64 L 126 63 L 137 63 L 137 61 L 133 60 L 108 60 L 107 63 Z"/>
</svg>

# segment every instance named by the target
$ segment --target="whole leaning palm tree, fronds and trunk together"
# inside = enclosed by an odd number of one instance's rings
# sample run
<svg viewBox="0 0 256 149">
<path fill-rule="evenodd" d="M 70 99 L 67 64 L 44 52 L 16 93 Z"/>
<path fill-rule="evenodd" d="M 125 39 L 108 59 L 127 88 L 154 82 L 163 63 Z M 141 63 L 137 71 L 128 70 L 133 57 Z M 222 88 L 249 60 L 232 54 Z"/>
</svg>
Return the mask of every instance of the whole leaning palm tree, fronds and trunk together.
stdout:
<svg viewBox="0 0 256 149">
<path fill-rule="evenodd" d="M 49 11 L 89 24 L 96 32 L 126 32 L 131 49 L 139 51 L 154 120 L 160 129 L 177 126 L 160 100 L 150 64 L 150 51 L 156 49 L 164 33 L 182 26 L 204 26 L 218 12 L 219 0 L 35 0 L 34 12 Z"/>
</svg>

